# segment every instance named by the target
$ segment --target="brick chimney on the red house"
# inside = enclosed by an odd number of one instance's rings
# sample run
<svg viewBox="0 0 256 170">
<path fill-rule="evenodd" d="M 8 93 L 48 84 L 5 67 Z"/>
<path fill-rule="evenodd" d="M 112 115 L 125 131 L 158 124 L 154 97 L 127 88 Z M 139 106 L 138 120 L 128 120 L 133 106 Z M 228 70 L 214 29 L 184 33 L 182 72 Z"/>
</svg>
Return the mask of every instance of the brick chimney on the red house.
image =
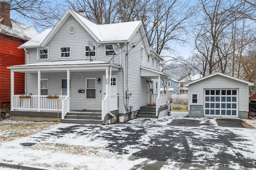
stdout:
<svg viewBox="0 0 256 170">
<path fill-rule="evenodd" d="M 0 2 L 0 23 L 12 27 L 10 20 L 10 4 L 6 1 Z"/>
</svg>

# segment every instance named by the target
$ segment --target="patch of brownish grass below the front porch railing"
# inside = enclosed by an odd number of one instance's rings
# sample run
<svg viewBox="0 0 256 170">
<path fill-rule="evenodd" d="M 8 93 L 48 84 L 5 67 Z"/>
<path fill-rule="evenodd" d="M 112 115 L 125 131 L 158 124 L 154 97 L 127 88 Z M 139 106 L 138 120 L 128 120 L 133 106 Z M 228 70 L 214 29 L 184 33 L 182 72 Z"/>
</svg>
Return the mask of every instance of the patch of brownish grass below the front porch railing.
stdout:
<svg viewBox="0 0 256 170">
<path fill-rule="evenodd" d="M 0 122 L 0 142 L 13 141 L 16 138 L 27 137 L 34 135 L 40 131 L 48 129 L 50 126 L 57 123 L 42 123 L 42 122 L 31 122 L 31 123 L 3 123 Z"/>
</svg>

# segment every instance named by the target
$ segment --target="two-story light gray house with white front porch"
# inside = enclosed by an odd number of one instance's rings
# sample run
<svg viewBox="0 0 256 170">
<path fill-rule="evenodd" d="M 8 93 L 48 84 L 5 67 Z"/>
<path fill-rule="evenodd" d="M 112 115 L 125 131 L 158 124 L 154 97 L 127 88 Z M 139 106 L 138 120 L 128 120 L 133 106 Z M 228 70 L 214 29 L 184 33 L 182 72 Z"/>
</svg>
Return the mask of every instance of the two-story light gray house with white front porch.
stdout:
<svg viewBox="0 0 256 170">
<path fill-rule="evenodd" d="M 28 63 L 8 67 L 12 119 L 56 120 L 60 112 L 62 122 L 126 121 L 152 102 L 150 81 L 168 79 L 142 21 L 97 25 L 68 9 L 53 29 L 19 48 L 26 49 Z M 16 72 L 26 73 L 23 96 L 14 92 Z M 158 90 L 152 117 L 167 113 L 167 95 L 160 84 Z"/>
</svg>

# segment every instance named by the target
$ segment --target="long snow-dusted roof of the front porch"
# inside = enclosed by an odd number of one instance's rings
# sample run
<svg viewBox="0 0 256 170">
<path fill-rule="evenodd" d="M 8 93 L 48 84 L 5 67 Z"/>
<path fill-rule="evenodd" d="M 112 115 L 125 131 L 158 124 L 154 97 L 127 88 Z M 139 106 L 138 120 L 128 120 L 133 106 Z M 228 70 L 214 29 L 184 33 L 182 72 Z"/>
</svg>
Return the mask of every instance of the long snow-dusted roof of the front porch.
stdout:
<svg viewBox="0 0 256 170">
<path fill-rule="evenodd" d="M 112 66 L 113 71 L 119 71 L 121 66 L 116 64 L 110 64 L 103 61 L 49 61 L 42 63 L 32 63 L 17 66 L 7 67 L 14 72 L 28 72 L 34 73 L 40 70 L 41 72 L 93 72 L 93 71 L 105 71 Z"/>
</svg>

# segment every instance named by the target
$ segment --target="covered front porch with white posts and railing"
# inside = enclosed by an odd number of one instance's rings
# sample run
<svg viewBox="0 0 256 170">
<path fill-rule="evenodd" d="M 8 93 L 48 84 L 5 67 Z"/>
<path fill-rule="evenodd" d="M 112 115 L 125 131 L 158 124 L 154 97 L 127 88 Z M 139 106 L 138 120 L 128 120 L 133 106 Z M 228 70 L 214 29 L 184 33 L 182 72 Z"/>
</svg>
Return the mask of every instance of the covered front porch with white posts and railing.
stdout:
<svg viewBox="0 0 256 170">
<path fill-rule="evenodd" d="M 119 109 L 119 95 L 112 94 L 109 82 L 111 80 L 111 84 L 114 84 L 112 81 L 117 81 L 113 77 L 117 77 L 120 66 L 115 64 L 101 61 L 58 61 L 9 68 L 13 115 L 37 112 L 34 115 L 44 117 L 59 113 L 59 117 L 65 120 L 67 113 L 90 109 L 101 114 L 100 121 L 103 123 L 106 117 L 109 118 L 108 115 L 112 115 L 112 111 Z M 14 94 L 15 72 L 27 73 L 26 94 Z M 47 82 L 47 86 L 42 88 L 42 82 L 44 86 Z M 48 95 L 42 95 L 45 91 Z"/>
</svg>

